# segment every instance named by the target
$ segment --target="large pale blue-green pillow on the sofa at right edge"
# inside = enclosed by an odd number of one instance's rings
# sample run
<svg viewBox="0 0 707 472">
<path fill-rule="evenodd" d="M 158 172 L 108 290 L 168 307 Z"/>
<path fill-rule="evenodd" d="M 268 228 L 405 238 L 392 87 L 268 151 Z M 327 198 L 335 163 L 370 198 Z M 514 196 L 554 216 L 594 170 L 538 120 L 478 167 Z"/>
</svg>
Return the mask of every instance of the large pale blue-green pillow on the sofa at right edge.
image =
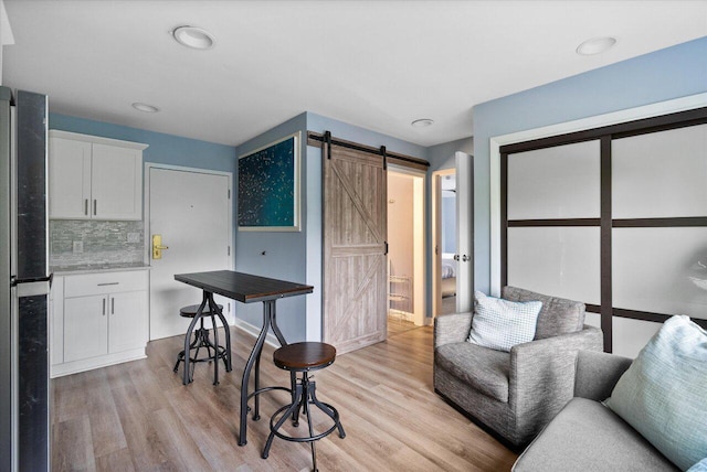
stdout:
<svg viewBox="0 0 707 472">
<path fill-rule="evenodd" d="M 672 317 L 604 404 L 680 470 L 707 458 L 707 332 Z"/>
</svg>

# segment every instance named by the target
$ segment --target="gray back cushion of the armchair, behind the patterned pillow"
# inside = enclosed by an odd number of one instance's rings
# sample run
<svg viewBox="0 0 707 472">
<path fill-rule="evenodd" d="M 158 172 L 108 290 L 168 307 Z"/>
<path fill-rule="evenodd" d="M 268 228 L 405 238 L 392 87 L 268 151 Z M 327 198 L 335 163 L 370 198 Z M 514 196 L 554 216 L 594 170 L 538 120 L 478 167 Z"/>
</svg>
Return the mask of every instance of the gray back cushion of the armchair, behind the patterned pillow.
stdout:
<svg viewBox="0 0 707 472">
<path fill-rule="evenodd" d="M 504 287 L 502 297 L 510 301 L 539 300 L 542 302 L 535 330 L 536 340 L 573 333 L 584 325 L 585 307 L 582 302 L 536 293 L 517 287 Z"/>
</svg>

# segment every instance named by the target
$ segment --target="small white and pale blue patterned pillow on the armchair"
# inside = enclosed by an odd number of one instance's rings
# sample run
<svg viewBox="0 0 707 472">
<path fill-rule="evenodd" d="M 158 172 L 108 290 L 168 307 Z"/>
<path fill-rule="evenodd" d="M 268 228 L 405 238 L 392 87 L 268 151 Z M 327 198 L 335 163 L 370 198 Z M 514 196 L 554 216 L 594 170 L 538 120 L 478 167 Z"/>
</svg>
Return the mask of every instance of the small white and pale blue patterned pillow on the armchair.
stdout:
<svg viewBox="0 0 707 472">
<path fill-rule="evenodd" d="M 476 303 L 468 342 L 496 351 L 509 352 L 516 344 L 535 337 L 540 301 L 508 301 L 474 292 Z"/>
</svg>

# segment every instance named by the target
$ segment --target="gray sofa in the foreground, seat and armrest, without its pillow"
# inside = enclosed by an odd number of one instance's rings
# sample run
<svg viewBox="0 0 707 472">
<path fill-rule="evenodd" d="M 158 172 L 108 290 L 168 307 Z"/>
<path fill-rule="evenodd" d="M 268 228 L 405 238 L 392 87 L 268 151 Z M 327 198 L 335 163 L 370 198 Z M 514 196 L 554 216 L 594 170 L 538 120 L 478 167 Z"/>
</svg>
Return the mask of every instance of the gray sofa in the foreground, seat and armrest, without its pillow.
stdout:
<svg viewBox="0 0 707 472">
<path fill-rule="evenodd" d="M 677 471 L 629 423 L 601 401 L 632 360 L 580 352 L 574 398 L 516 461 L 514 472 Z"/>
</svg>

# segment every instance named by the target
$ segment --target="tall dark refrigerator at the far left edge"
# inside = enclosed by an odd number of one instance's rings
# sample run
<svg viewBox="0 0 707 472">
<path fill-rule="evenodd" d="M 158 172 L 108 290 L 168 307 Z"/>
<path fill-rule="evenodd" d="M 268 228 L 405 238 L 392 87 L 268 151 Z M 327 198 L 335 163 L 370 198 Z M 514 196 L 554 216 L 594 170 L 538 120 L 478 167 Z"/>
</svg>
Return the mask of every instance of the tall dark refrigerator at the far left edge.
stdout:
<svg viewBox="0 0 707 472">
<path fill-rule="evenodd" d="M 50 470 L 46 96 L 0 87 L 0 471 Z"/>
</svg>

